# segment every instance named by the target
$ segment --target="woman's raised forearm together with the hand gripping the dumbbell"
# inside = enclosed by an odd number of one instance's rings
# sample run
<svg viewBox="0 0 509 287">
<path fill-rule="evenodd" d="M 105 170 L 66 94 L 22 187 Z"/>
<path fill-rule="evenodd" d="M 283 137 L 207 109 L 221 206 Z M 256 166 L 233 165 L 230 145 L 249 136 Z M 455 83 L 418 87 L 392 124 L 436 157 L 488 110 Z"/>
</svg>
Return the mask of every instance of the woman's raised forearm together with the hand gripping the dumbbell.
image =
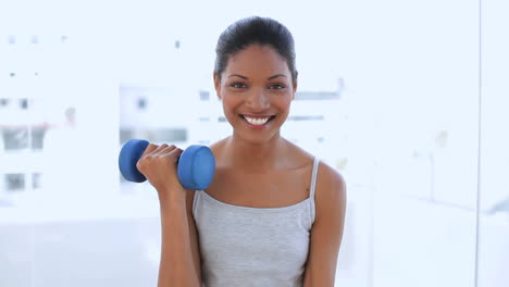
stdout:
<svg viewBox="0 0 509 287">
<path fill-rule="evenodd" d="M 159 287 L 201 287 L 193 196 L 177 178 L 177 161 L 183 150 L 174 145 L 150 144 L 136 163 L 156 188 L 161 210 L 161 263 Z"/>
</svg>

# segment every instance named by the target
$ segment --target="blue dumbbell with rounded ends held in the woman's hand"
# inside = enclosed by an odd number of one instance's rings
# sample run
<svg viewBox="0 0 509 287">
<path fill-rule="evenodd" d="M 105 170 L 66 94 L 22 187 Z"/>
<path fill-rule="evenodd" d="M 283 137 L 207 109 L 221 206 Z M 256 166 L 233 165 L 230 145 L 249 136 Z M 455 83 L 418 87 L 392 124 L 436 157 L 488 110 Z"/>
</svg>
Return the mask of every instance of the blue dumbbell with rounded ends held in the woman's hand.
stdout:
<svg viewBox="0 0 509 287">
<path fill-rule="evenodd" d="M 149 142 L 142 139 L 129 139 L 122 147 L 119 155 L 119 169 L 122 176 L 129 182 L 147 180 L 136 167 Z M 206 189 L 214 177 L 215 160 L 212 151 L 206 146 L 189 146 L 178 158 L 178 180 L 186 189 Z"/>
</svg>

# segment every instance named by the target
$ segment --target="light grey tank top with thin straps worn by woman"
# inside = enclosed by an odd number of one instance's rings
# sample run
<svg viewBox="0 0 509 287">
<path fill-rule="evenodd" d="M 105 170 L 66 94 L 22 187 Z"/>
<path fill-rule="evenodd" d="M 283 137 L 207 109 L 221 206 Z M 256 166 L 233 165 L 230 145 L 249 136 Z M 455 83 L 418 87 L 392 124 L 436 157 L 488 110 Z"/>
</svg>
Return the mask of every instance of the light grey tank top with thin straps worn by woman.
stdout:
<svg viewBox="0 0 509 287">
<path fill-rule="evenodd" d="M 203 286 L 302 286 L 318 166 L 314 158 L 309 198 L 289 207 L 233 205 L 195 192 Z"/>
</svg>

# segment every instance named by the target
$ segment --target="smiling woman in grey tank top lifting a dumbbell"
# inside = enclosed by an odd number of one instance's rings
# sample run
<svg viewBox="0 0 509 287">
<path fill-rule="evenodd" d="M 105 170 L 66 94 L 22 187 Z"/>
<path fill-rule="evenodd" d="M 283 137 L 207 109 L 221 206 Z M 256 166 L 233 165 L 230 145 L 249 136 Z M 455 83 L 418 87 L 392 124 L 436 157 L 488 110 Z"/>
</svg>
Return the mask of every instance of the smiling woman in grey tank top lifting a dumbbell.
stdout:
<svg viewBox="0 0 509 287">
<path fill-rule="evenodd" d="M 234 23 L 213 79 L 233 135 L 210 147 L 212 184 L 182 187 L 175 146 L 150 145 L 137 164 L 161 203 L 159 286 L 334 286 L 345 182 L 280 135 L 297 89 L 291 34 L 271 18 Z"/>
</svg>

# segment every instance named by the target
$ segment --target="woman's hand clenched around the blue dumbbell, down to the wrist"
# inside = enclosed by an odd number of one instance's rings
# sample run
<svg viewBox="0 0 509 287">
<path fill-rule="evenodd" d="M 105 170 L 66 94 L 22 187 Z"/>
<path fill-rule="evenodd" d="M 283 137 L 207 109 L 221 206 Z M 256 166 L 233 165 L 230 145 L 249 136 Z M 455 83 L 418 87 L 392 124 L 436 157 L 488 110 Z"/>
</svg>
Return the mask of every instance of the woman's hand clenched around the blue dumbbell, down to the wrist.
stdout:
<svg viewBox="0 0 509 287">
<path fill-rule="evenodd" d="M 138 171 L 158 190 L 160 200 L 186 195 L 177 176 L 177 161 L 182 152 L 174 145 L 150 144 L 136 163 Z"/>
</svg>

